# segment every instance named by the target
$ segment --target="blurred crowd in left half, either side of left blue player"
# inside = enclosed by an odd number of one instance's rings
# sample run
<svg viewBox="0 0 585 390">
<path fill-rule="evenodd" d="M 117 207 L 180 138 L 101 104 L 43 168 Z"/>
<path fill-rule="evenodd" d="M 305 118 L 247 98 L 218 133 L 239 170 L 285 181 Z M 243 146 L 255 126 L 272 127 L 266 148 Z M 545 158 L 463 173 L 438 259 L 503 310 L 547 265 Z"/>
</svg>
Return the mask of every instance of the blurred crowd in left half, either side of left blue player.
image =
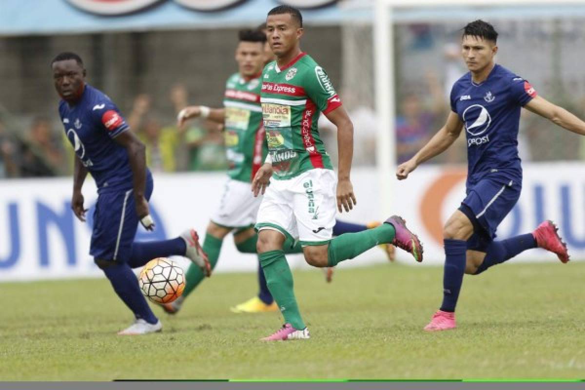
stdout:
<svg viewBox="0 0 585 390">
<path fill-rule="evenodd" d="M 147 94 L 136 96 L 122 110 L 130 129 L 146 145 L 147 164 L 153 172 L 221 171 L 227 168 L 223 129 L 209 120 L 192 120 L 178 128 L 174 118 L 184 108 L 187 90 L 170 89 L 174 112 L 161 115 Z M 168 118 L 167 120 L 161 118 Z M 74 152 L 63 127 L 54 118 L 32 119 L 25 131 L 9 129 L 0 120 L 0 178 L 55 177 L 73 172 Z"/>
</svg>

